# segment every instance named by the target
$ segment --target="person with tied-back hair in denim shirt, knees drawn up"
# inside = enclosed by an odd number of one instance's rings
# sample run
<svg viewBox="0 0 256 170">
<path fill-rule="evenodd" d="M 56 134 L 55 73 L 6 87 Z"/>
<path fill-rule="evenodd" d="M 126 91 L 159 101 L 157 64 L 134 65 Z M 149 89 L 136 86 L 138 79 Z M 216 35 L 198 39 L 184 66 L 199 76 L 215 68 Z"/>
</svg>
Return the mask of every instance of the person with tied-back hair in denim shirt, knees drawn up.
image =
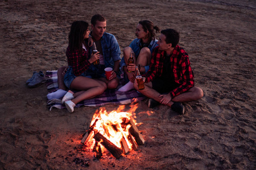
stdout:
<svg viewBox="0 0 256 170">
<path fill-rule="evenodd" d="M 129 91 L 133 89 L 133 83 L 135 80 L 135 67 L 138 66 L 140 73 L 146 73 L 149 69 L 152 52 L 156 46 L 158 46 L 158 40 L 155 39 L 155 33 L 160 29 L 149 20 L 141 20 L 136 28 L 135 35 L 137 39 L 134 39 L 131 44 L 123 50 L 123 58 L 120 62 L 121 69 L 124 73 L 125 86 L 119 88 L 118 91 Z M 128 64 L 128 59 L 133 50 L 134 63 Z"/>
</svg>

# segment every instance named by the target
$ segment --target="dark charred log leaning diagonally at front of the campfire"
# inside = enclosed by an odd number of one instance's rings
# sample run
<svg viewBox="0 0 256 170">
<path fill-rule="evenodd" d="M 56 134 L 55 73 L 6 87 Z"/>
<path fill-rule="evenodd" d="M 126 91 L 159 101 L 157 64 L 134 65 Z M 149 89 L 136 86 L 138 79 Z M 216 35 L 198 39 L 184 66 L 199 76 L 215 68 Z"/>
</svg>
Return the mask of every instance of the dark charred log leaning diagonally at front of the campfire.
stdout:
<svg viewBox="0 0 256 170">
<path fill-rule="evenodd" d="M 94 131 L 94 137 L 93 137 L 96 141 L 100 142 L 101 141 L 101 145 L 103 145 L 107 150 L 110 151 L 110 153 L 116 158 L 118 159 L 122 153 L 123 150 L 117 146 L 115 146 L 112 142 L 110 142 L 108 139 L 106 139 L 102 134 L 100 133 L 96 133 Z"/>
</svg>

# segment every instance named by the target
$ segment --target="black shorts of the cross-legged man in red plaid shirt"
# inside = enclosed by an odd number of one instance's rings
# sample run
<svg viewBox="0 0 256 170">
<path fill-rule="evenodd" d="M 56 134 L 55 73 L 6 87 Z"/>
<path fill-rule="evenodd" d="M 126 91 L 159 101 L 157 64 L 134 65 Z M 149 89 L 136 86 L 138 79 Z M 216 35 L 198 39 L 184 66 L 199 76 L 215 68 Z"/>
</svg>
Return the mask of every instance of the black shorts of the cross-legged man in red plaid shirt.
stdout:
<svg viewBox="0 0 256 170">
<path fill-rule="evenodd" d="M 151 83 L 152 88 L 158 91 L 160 94 L 168 93 L 180 86 L 180 84 L 177 84 L 175 82 L 168 82 L 160 78 L 155 78 L 154 80 L 152 80 Z"/>
</svg>

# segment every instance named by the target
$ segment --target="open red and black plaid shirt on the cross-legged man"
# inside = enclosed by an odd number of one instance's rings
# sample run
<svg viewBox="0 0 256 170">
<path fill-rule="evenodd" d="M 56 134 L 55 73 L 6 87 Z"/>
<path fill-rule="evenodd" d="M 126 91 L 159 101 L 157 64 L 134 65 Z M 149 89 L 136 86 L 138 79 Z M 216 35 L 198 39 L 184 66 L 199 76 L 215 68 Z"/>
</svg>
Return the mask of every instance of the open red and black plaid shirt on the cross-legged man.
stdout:
<svg viewBox="0 0 256 170">
<path fill-rule="evenodd" d="M 159 46 L 156 46 L 152 53 L 150 69 L 143 75 L 146 77 L 146 82 L 150 82 L 155 77 L 160 77 L 162 75 L 165 57 L 166 52 L 160 50 Z M 171 97 L 174 97 L 194 86 L 194 75 L 190 66 L 188 54 L 179 45 L 174 48 L 174 52 L 170 57 L 170 62 L 170 71 L 172 71 L 174 82 L 180 84 L 179 87 L 170 91 Z"/>
</svg>

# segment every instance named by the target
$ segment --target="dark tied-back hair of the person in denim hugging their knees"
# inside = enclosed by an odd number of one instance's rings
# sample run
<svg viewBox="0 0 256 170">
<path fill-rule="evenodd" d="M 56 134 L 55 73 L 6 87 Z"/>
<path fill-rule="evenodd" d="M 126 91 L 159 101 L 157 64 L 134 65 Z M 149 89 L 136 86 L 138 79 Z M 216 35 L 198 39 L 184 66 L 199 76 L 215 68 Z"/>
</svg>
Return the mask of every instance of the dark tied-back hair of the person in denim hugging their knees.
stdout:
<svg viewBox="0 0 256 170">
<path fill-rule="evenodd" d="M 144 32 L 148 31 L 148 35 L 146 38 L 148 38 L 149 41 L 155 40 L 155 32 L 159 32 L 160 29 L 158 26 L 154 26 L 154 24 L 150 20 L 141 20 L 139 24 L 142 25 L 142 28 L 144 29 Z"/>
</svg>

